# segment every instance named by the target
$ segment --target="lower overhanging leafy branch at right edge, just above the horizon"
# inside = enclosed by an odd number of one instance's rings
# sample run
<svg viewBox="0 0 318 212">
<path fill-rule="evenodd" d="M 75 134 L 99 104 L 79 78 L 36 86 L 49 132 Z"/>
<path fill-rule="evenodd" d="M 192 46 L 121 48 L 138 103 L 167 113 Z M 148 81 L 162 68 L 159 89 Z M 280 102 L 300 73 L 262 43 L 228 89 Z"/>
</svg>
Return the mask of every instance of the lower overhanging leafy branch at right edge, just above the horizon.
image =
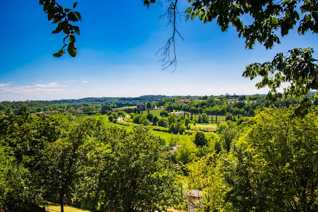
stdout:
<svg viewBox="0 0 318 212">
<path fill-rule="evenodd" d="M 261 76 L 263 79 L 256 87 L 260 89 L 268 86 L 271 89 L 267 95 L 271 103 L 282 98 L 282 94 L 277 91 L 282 83 L 290 84 L 284 89 L 285 99 L 289 96 L 298 98 L 318 90 L 318 60 L 313 58 L 313 53 L 312 48 L 296 48 L 288 51 L 287 55 L 279 53 L 272 62 L 248 65 L 243 76 L 251 80 Z"/>
</svg>

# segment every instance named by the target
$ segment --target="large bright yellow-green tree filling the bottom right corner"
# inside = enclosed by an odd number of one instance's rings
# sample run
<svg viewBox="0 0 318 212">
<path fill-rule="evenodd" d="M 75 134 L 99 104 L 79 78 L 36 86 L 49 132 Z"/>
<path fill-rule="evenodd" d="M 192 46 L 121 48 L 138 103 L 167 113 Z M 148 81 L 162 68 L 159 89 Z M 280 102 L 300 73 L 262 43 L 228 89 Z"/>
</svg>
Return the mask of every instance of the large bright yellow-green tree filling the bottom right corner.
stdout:
<svg viewBox="0 0 318 212">
<path fill-rule="evenodd" d="M 318 210 L 316 113 L 266 109 L 223 162 L 227 200 L 239 211 Z"/>
</svg>

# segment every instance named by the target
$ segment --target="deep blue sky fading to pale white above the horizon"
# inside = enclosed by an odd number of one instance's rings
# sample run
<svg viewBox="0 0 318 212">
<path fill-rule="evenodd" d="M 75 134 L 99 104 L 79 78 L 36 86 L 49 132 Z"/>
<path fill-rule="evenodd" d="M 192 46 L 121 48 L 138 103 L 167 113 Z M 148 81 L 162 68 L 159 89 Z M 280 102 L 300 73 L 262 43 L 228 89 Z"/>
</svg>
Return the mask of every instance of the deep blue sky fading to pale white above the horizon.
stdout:
<svg viewBox="0 0 318 212">
<path fill-rule="evenodd" d="M 188 2 L 179 1 L 180 10 Z M 71 7 L 70 0 L 60 4 Z M 138 1 L 79 1 L 78 54 L 54 58 L 62 34 L 51 34 L 38 1 L 0 1 L 0 101 L 57 100 L 85 97 L 141 95 L 264 94 L 257 80 L 241 75 L 246 65 L 272 60 L 278 52 L 295 47 L 318 51 L 318 35 L 292 31 L 280 45 L 266 50 L 256 44 L 245 50 L 233 28 L 221 32 L 215 22 L 197 18 L 178 24 L 185 41 L 176 39 L 178 65 L 161 71 L 156 51 L 166 44 L 172 28 L 160 19 L 166 7 L 150 9 Z M 318 53 L 315 52 L 318 58 Z"/>
</svg>

